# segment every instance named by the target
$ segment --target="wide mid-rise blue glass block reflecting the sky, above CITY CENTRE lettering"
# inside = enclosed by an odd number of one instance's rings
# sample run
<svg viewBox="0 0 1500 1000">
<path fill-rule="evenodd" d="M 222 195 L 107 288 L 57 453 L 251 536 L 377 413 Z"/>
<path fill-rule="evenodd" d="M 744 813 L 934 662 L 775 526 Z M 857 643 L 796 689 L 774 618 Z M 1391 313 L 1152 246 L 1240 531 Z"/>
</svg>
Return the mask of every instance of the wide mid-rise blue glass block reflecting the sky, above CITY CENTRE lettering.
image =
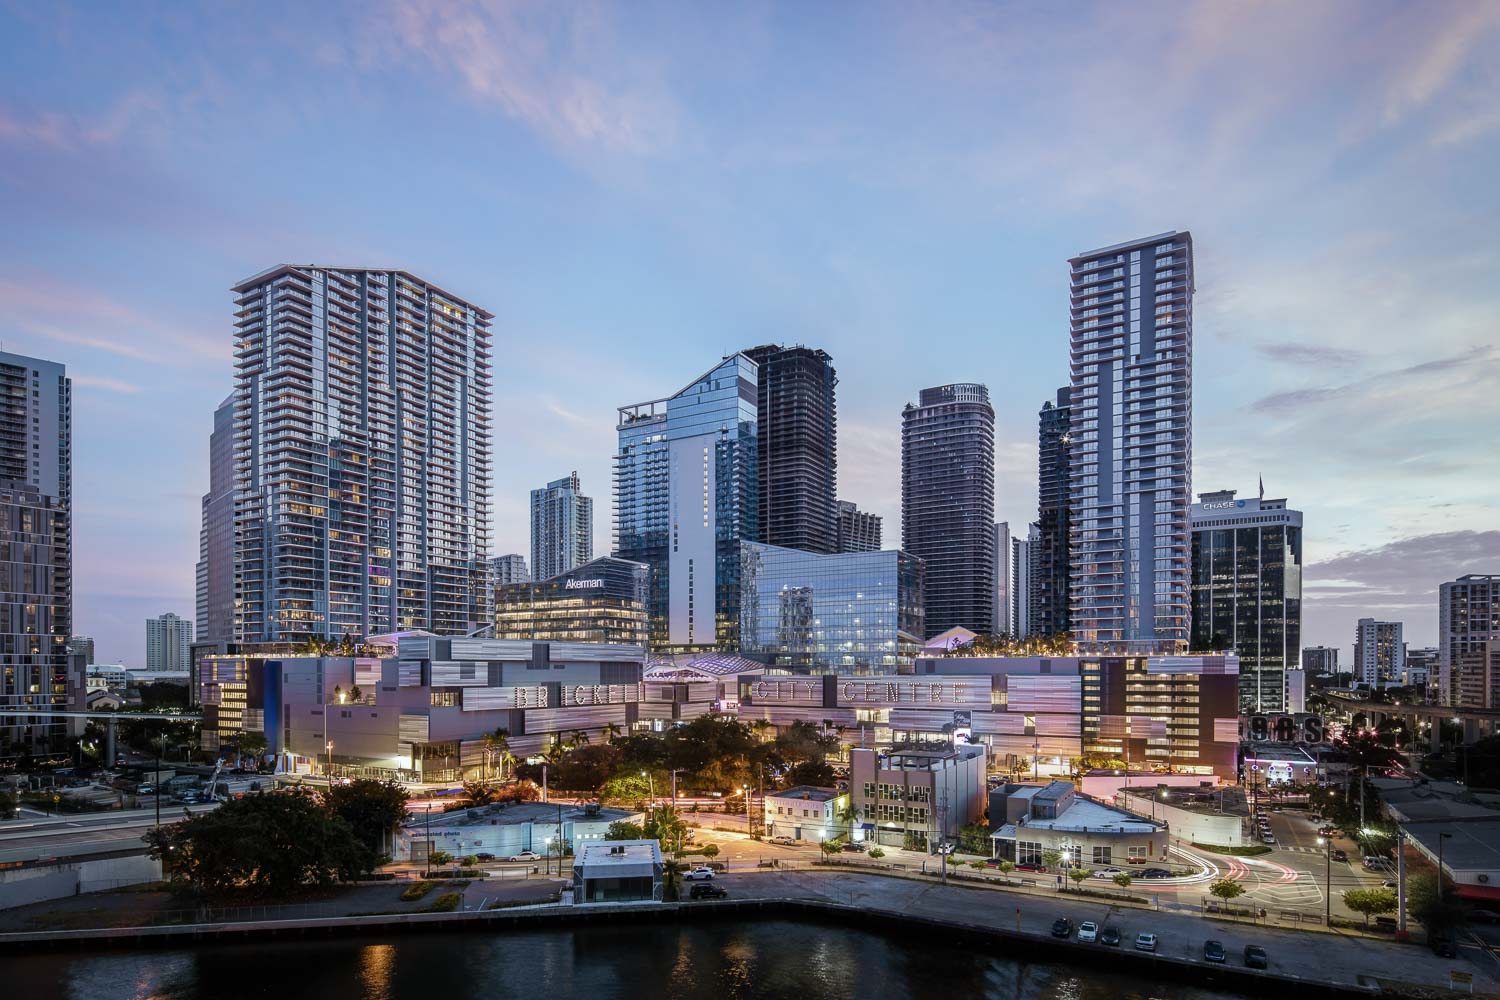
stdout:
<svg viewBox="0 0 1500 1000">
<path fill-rule="evenodd" d="M 798 673 L 897 673 L 922 636 L 922 564 L 744 543 L 740 652 Z"/>
</svg>

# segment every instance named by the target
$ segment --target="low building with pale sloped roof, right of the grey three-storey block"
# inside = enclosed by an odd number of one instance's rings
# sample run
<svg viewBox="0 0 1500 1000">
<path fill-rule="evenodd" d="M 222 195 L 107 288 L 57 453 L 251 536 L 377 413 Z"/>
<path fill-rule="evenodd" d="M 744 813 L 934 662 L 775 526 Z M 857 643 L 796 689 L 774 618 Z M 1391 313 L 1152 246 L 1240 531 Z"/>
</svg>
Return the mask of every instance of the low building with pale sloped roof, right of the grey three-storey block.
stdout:
<svg viewBox="0 0 1500 1000">
<path fill-rule="evenodd" d="M 1166 823 L 1080 795 L 1070 781 L 1005 784 L 990 792 L 994 858 L 1041 864 L 1059 852 L 1065 864 L 1143 864 L 1167 853 Z"/>
</svg>

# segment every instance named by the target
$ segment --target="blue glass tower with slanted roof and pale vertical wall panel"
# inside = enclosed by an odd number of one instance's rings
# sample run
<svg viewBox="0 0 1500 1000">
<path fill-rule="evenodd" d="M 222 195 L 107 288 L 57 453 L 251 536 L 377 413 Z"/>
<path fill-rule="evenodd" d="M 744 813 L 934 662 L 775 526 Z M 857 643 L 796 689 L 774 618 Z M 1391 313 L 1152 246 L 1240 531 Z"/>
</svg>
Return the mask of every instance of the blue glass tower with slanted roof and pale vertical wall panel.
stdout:
<svg viewBox="0 0 1500 1000">
<path fill-rule="evenodd" d="M 650 567 L 654 649 L 740 643 L 741 541 L 758 537 L 758 366 L 734 354 L 666 399 L 620 408 L 615 555 Z"/>
</svg>

